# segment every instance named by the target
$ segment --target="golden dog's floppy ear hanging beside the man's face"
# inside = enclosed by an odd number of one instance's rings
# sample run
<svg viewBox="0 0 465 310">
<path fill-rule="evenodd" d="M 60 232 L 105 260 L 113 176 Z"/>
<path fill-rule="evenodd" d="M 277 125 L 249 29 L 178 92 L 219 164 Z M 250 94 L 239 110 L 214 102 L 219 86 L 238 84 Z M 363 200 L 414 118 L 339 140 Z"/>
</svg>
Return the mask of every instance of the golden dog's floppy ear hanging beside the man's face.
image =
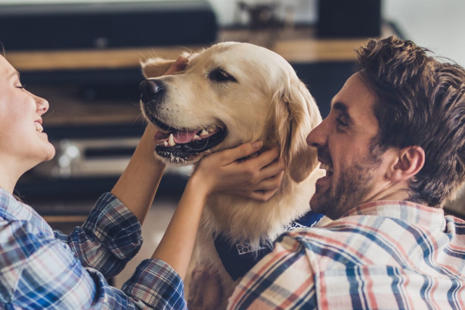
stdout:
<svg viewBox="0 0 465 310">
<path fill-rule="evenodd" d="M 288 80 L 274 96 L 274 134 L 281 159 L 296 182 L 305 180 L 318 164 L 317 150 L 307 145 L 310 131 L 321 122 L 321 115 L 310 92 L 297 77 Z"/>
</svg>

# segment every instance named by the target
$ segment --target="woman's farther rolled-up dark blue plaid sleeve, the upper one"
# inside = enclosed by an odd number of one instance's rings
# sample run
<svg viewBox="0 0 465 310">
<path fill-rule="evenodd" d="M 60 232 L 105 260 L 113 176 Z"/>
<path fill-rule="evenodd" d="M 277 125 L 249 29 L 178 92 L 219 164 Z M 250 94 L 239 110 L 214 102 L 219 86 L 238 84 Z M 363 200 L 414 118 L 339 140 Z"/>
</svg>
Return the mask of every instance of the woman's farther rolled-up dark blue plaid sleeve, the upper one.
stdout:
<svg viewBox="0 0 465 310">
<path fill-rule="evenodd" d="M 120 273 L 142 245 L 138 219 L 111 193 L 100 196 L 82 227 L 69 235 L 54 231 L 54 236 L 69 245 L 84 267 L 107 278 Z"/>
</svg>

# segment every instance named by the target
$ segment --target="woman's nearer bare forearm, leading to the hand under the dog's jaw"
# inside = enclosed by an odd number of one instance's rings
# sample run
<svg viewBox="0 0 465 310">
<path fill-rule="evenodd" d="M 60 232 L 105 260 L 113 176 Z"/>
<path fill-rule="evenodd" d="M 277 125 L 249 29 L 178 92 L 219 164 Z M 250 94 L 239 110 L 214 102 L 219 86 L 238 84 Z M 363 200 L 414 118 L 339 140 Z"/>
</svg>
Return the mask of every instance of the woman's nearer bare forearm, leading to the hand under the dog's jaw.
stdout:
<svg viewBox="0 0 465 310">
<path fill-rule="evenodd" d="M 171 265 L 183 280 L 186 277 L 207 197 L 193 184 L 195 182 L 187 183 L 165 235 L 152 256 Z"/>
</svg>

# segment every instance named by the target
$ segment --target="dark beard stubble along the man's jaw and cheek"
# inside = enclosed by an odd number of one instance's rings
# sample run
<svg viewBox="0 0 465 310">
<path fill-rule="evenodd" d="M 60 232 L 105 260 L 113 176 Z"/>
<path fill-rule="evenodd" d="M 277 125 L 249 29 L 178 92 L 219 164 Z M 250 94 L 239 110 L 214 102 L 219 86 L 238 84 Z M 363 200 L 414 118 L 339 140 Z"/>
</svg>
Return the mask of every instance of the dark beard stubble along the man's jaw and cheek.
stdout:
<svg viewBox="0 0 465 310">
<path fill-rule="evenodd" d="M 358 163 L 346 171 L 341 171 L 337 182 L 324 192 L 316 186 L 310 199 L 312 211 L 326 215 L 332 220 L 340 218 L 345 212 L 358 206 L 362 198 L 372 189 L 372 171 L 381 163 L 384 152 L 372 141 L 370 152 Z"/>
</svg>

